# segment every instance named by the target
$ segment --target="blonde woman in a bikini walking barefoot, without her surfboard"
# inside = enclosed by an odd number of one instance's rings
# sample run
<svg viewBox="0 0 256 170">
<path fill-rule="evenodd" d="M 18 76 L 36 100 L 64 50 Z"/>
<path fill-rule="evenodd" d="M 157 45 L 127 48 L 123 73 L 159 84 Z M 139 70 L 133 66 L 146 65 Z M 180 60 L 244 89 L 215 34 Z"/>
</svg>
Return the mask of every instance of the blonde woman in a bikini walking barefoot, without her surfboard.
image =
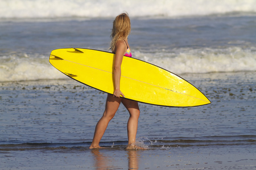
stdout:
<svg viewBox="0 0 256 170">
<path fill-rule="evenodd" d="M 108 94 L 106 99 L 106 106 L 103 116 L 98 121 L 92 145 L 89 148 L 102 148 L 99 143 L 105 130 L 109 124 L 109 121 L 115 116 L 117 109 L 122 102 L 126 109 L 129 111 L 130 117 L 127 122 L 127 134 L 128 134 L 128 146 L 127 149 L 137 149 L 135 146 L 135 138 L 138 128 L 139 120 L 139 105 L 137 101 L 128 100 L 122 97 L 125 95 L 121 92 L 120 79 L 121 79 L 121 63 L 123 56 L 131 57 L 130 46 L 127 41 L 127 37 L 131 31 L 130 18 L 127 14 L 123 13 L 118 15 L 113 22 L 112 29 L 112 41 L 110 49 L 115 53 L 114 66 L 113 66 L 113 78 L 114 78 L 114 94 Z M 122 96 L 122 97 L 120 97 Z"/>
</svg>

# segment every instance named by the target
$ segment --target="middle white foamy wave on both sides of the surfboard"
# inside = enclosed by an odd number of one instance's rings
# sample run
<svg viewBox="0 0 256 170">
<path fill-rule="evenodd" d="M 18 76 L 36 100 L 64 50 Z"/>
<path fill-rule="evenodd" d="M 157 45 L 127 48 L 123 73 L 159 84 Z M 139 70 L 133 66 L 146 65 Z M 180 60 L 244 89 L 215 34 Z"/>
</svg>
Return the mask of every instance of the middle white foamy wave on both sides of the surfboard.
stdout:
<svg viewBox="0 0 256 170">
<path fill-rule="evenodd" d="M 256 48 L 174 49 L 172 52 L 141 53 L 133 57 L 167 69 L 175 74 L 256 71 Z M 0 82 L 68 78 L 56 70 L 48 56 L 39 54 L 0 58 Z"/>
</svg>

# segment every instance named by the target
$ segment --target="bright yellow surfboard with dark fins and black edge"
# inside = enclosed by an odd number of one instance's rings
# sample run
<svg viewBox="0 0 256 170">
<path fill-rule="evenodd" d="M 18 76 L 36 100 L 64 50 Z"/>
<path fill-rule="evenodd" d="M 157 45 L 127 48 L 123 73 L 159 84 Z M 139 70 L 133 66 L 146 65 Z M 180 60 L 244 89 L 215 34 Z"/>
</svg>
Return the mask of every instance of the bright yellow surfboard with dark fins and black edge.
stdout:
<svg viewBox="0 0 256 170">
<path fill-rule="evenodd" d="M 93 49 L 64 48 L 51 52 L 57 70 L 87 86 L 113 94 L 115 54 Z M 126 99 L 167 107 L 210 104 L 195 86 L 170 71 L 131 57 L 123 57 L 120 80 Z"/>
</svg>

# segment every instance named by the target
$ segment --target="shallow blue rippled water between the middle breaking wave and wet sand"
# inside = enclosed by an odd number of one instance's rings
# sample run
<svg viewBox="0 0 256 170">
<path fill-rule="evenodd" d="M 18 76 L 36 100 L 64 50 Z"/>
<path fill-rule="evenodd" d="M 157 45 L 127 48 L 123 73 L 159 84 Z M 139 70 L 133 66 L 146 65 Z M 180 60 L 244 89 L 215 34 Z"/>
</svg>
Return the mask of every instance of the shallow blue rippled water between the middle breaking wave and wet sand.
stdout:
<svg viewBox="0 0 256 170">
<path fill-rule="evenodd" d="M 183 75 L 212 104 L 194 108 L 140 104 L 138 137 L 152 147 L 255 142 L 254 74 Z M 1 83 L 1 144 L 82 143 L 86 147 L 105 98 L 103 92 L 69 79 Z M 121 105 L 102 138 L 104 145 L 116 141 L 126 145 L 128 117 Z"/>
</svg>

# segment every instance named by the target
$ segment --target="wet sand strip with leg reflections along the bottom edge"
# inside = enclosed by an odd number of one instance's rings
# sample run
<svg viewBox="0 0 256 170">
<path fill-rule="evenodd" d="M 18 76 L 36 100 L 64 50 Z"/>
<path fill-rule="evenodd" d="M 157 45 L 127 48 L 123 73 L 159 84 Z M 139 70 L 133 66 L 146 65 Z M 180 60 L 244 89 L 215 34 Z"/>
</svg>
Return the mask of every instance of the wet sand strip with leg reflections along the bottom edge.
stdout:
<svg viewBox="0 0 256 170">
<path fill-rule="evenodd" d="M 255 149 L 241 147 L 2 151 L 1 169 L 255 169 Z"/>
</svg>

